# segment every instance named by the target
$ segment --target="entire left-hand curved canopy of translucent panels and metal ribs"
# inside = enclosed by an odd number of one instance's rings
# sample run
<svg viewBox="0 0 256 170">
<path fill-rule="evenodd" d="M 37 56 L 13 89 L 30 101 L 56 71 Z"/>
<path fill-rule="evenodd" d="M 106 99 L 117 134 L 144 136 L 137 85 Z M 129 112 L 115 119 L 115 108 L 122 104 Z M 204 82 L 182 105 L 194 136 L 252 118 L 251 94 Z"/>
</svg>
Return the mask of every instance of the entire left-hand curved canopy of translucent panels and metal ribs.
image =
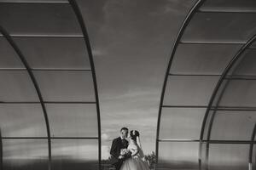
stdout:
<svg viewBox="0 0 256 170">
<path fill-rule="evenodd" d="M 0 1 L 3 169 L 91 169 L 101 157 L 88 35 L 76 3 Z"/>
</svg>

